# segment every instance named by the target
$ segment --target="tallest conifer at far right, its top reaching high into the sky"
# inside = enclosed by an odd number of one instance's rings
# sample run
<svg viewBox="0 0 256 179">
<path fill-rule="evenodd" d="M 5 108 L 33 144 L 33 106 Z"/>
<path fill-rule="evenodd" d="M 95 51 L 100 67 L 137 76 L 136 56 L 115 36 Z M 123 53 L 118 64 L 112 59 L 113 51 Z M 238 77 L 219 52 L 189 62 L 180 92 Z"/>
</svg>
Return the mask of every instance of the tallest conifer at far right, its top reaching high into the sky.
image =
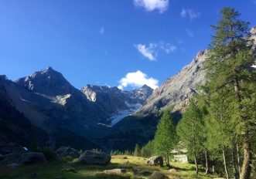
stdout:
<svg viewBox="0 0 256 179">
<path fill-rule="evenodd" d="M 207 92 L 210 94 L 220 91 L 227 92 L 227 96 L 235 96 L 238 133 L 243 139 L 244 160 L 241 168 L 241 179 L 251 175 L 251 133 L 255 130 L 254 118 L 247 111 L 251 108 L 252 95 L 243 83 L 255 83 L 254 72 L 250 70 L 254 64 L 254 54 L 251 52 L 251 42 L 244 38 L 248 32 L 248 22 L 239 19 L 240 14 L 234 8 L 226 7 L 221 10 L 222 19 L 217 26 L 210 46 L 210 56 L 207 59 Z"/>
</svg>

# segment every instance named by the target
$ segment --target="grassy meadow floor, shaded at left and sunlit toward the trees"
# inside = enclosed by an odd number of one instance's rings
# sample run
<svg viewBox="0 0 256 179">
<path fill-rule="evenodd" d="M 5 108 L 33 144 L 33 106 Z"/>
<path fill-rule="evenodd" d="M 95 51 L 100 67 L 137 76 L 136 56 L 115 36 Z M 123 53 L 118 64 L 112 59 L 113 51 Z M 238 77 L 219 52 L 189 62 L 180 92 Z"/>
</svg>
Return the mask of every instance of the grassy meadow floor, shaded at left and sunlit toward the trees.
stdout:
<svg viewBox="0 0 256 179">
<path fill-rule="evenodd" d="M 203 171 L 196 176 L 193 164 L 173 163 L 176 169 L 170 172 L 166 167 L 146 166 L 146 159 L 133 156 L 112 156 L 111 163 L 104 166 L 69 164 L 67 162 L 53 162 L 48 164 L 22 166 L 16 168 L 0 167 L 1 179 L 128 179 L 128 178 L 149 178 L 153 171 L 161 171 L 169 178 L 214 178 L 213 175 L 205 175 Z M 114 168 L 125 168 L 127 173 L 122 175 L 104 174 L 104 170 Z M 134 171 L 141 171 L 142 175 L 135 175 Z M 33 174 L 36 173 L 36 174 Z"/>
</svg>

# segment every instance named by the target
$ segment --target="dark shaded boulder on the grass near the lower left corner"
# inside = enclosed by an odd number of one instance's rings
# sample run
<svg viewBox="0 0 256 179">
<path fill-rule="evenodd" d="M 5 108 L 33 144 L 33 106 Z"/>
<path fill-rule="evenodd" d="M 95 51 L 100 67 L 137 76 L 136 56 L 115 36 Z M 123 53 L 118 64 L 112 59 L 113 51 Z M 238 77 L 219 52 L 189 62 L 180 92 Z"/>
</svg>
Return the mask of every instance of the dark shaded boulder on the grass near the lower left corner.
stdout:
<svg viewBox="0 0 256 179">
<path fill-rule="evenodd" d="M 39 152 L 28 152 L 22 154 L 22 164 L 41 164 L 46 162 L 46 157 L 43 153 Z"/>
</svg>

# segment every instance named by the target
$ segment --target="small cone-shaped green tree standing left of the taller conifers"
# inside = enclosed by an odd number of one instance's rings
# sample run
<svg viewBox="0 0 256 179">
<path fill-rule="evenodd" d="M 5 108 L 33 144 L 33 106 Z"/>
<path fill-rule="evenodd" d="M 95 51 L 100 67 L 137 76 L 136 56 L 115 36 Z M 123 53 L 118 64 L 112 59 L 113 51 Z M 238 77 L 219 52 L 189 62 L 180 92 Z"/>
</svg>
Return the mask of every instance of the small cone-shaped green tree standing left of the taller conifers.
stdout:
<svg viewBox="0 0 256 179">
<path fill-rule="evenodd" d="M 176 128 L 172 123 L 169 111 L 162 114 L 157 126 L 154 139 L 154 148 L 157 154 L 162 154 L 166 158 L 166 165 L 170 167 L 169 155 L 177 143 Z"/>
</svg>

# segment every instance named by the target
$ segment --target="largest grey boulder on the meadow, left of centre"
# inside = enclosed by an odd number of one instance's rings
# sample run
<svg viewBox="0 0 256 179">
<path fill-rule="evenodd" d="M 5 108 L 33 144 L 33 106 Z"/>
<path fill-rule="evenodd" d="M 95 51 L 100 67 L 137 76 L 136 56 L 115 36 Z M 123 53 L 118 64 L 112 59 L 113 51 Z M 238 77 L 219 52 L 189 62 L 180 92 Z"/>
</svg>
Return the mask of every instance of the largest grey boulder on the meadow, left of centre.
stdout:
<svg viewBox="0 0 256 179">
<path fill-rule="evenodd" d="M 86 150 L 77 159 L 77 163 L 82 164 L 108 164 L 111 161 L 111 156 L 104 152 Z"/>
</svg>

